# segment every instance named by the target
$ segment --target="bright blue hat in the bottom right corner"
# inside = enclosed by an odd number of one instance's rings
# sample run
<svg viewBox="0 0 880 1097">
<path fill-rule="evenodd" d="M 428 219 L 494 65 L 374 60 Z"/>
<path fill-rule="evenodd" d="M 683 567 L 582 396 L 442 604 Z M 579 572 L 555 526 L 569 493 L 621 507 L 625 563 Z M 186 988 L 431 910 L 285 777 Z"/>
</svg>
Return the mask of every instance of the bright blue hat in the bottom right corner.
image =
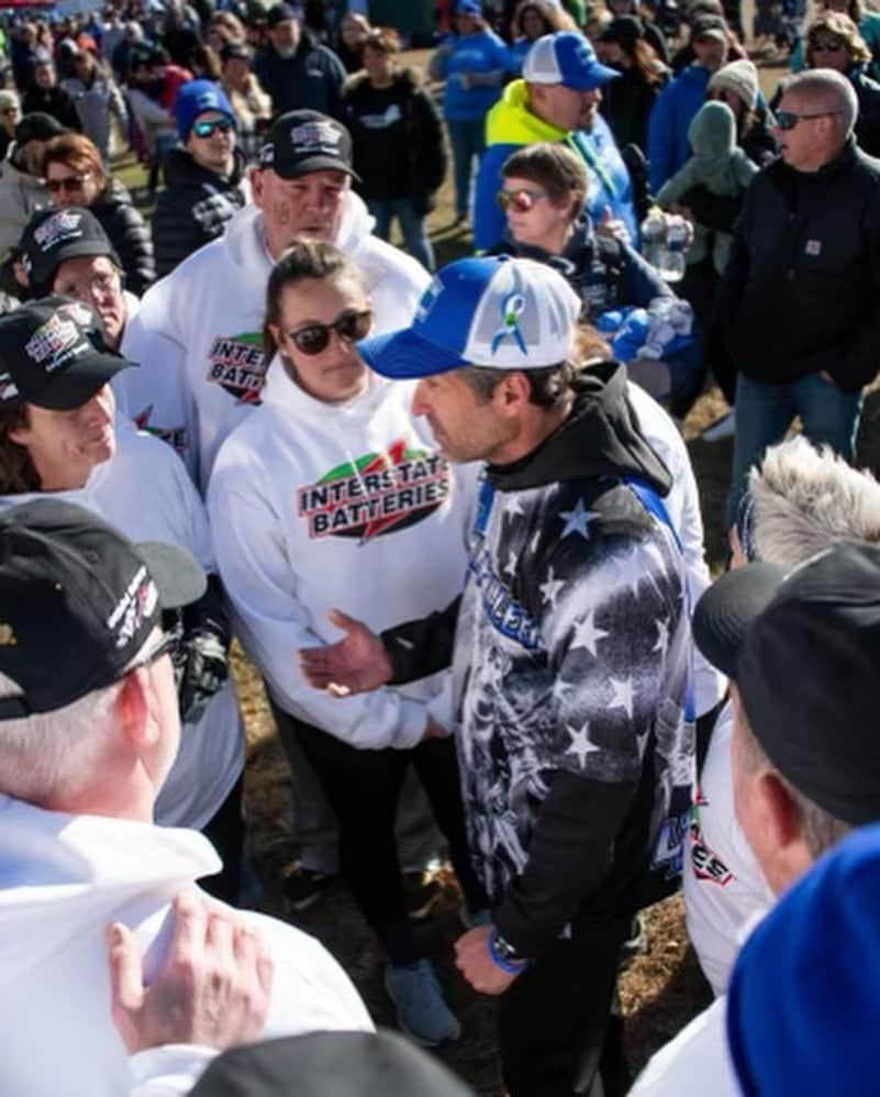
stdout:
<svg viewBox="0 0 880 1097">
<path fill-rule="evenodd" d="M 727 1044 L 745 1097 L 876 1094 L 878 986 L 880 825 L 872 824 L 817 861 L 737 957 Z"/>
</svg>

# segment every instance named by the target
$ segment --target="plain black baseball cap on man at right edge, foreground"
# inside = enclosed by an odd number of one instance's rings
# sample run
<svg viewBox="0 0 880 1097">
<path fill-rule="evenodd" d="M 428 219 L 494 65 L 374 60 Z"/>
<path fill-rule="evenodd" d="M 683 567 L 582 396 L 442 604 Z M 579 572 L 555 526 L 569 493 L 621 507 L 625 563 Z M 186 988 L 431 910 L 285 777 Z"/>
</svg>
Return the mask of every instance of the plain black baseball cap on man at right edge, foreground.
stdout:
<svg viewBox="0 0 880 1097">
<path fill-rule="evenodd" d="M 729 572 L 698 602 L 693 638 L 794 788 L 851 825 L 880 819 L 880 548 Z"/>
</svg>

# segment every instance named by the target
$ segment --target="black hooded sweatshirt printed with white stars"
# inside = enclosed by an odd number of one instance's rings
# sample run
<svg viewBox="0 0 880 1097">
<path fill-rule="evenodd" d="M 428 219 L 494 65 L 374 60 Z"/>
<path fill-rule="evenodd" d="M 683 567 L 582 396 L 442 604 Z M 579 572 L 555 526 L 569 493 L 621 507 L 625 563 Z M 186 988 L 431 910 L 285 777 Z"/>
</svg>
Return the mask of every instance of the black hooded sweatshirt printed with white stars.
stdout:
<svg viewBox="0 0 880 1097">
<path fill-rule="evenodd" d="M 588 372 L 561 426 L 487 467 L 461 599 L 382 635 L 396 682 L 452 656 L 471 856 L 528 956 L 670 890 L 687 833 L 683 564 L 625 381 Z"/>
</svg>

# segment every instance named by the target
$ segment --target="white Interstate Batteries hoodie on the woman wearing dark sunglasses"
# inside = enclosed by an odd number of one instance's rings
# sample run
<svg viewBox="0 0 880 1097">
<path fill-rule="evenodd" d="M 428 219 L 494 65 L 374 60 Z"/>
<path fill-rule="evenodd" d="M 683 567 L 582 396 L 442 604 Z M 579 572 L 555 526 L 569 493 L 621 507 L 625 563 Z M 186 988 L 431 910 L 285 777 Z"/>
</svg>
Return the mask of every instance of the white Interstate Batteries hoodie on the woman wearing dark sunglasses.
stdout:
<svg viewBox="0 0 880 1097">
<path fill-rule="evenodd" d="M 322 403 L 276 357 L 263 406 L 224 442 L 208 491 L 236 635 L 269 692 L 358 747 L 414 746 L 442 676 L 339 700 L 307 685 L 297 650 L 338 639 L 334 607 L 381 631 L 443 609 L 465 580 L 476 467 L 441 456 L 410 411 L 412 388 L 370 375 L 350 403 Z"/>
</svg>

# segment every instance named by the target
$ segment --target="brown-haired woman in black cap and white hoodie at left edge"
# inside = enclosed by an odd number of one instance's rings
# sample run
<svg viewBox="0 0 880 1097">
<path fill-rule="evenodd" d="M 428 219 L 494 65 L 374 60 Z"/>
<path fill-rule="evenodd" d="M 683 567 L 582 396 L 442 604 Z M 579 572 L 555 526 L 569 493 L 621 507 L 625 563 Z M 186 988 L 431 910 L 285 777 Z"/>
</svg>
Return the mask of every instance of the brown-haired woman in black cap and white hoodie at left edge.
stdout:
<svg viewBox="0 0 880 1097">
<path fill-rule="evenodd" d="M 179 640 L 172 658 L 181 735 L 155 819 L 205 833 L 224 869 L 203 886 L 234 902 L 244 847 L 244 741 L 226 674 L 230 633 L 204 506 L 170 446 L 118 421 L 110 381 L 133 363 L 108 347 L 88 306 L 59 296 L 22 306 L 3 319 L 3 359 L 0 509 L 52 492 L 134 541 L 187 548 L 211 576 L 205 595 L 168 622 Z M 13 381 L 10 396 L 12 378 L 18 386 Z"/>
</svg>

